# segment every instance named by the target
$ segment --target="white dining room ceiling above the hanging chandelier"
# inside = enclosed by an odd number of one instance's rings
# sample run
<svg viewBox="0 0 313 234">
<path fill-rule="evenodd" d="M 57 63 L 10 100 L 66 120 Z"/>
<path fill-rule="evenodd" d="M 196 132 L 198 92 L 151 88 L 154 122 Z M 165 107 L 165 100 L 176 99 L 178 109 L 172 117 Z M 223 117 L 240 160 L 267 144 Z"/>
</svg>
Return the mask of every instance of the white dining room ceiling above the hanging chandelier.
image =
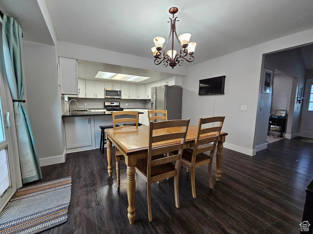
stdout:
<svg viewBox="0 0 313 234">
<path fill-rule="evenodd" d="M 152 39 L 167 38 L 168 9 L 177 34 L 197 42 L 192 65 L 313 28 L 312 0 L 45 0 L 58 40 L 153 58 Z"/>
</svg>

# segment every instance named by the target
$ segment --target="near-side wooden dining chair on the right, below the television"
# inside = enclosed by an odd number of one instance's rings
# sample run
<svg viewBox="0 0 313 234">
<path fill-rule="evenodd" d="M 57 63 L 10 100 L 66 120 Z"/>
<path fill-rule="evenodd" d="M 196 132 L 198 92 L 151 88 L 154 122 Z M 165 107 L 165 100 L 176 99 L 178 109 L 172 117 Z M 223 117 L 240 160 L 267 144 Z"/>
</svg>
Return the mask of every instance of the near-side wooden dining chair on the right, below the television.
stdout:
<svg viewBox="0 0 313 234">
<path fill-rule="evenodd" d="M 181 163 L 186 165 L 187 168 L 189 167 L 191 169 L 191 188 L 193 198 L 196 198 L 196 185 L 195 185 L 196 168 L 208 164 L 209 186 L 210 188 L 213 188 L 213 179 L 212 179 L 213 155 L 217 145 L 219 134 L 224 123 L 224 119 L 225 116 L 209 117 L 204 119 L 199 118 L 198 130 L 196 133 L 193 149 L 184 149 L 183 151 Z M 203 124 L 216 122 L 219 123 L 218 127 L 202 128 Z M 205 145 L 209 143 L 212 144 Z M 210 151 L 210 153 L 204 154 L 204 152 L 207 151 Z"/>
</svg>

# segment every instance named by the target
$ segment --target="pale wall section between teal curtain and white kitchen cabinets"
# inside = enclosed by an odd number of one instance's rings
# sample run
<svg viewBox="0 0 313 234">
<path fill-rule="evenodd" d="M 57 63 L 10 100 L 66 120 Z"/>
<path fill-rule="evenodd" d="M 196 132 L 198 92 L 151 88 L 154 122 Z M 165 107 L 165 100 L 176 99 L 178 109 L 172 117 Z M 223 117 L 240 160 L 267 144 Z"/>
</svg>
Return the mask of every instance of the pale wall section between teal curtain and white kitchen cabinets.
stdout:
<svg viewBox="0 0 313 234">
<path fill-rule="evenodd" d="M 45 158 L 56 157 L 58 162 L 64 160 L 65 144 L 55 62 L 55 46 L 23 41 L 28 115 L 41 165 Z"/>
</svg>

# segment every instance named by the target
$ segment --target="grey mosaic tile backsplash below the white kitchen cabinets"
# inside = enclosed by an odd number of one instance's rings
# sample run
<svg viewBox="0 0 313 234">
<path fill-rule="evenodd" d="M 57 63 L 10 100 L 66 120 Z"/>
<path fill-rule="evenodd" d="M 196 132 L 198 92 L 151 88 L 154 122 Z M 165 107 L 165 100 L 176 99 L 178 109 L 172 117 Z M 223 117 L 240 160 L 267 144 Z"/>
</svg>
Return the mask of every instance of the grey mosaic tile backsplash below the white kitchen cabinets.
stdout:
<svg viewBox="0 0 313 234">
<path fill-rule="evenodd" d="M 64 95 L 63 95 L 64 96 Z M 151 108 L 151 100 L 150 99 L 120 99 L 120 98 L 76 98 L 69 97 L 68 100 L 75 99 L 78 103 L 71 102 L 72 110 L 80 110 L 80 109 L 100 109 L 103 108 L 104 102 L 120 102 L 122 108 L 131 108 L 131 109 L 150 109 Z M 61 103 L 62 103 L 62 95 L 61 95 Z M 64 105 L 64 110 L 66 111 L 68 102 Z M 86 103 L 86 105 L 85 105 Z M 126 105 L 128 104 L 128 105 Z M 62 105 L 62 113 L 63 113 L 63 105 Z"/>
</svg>

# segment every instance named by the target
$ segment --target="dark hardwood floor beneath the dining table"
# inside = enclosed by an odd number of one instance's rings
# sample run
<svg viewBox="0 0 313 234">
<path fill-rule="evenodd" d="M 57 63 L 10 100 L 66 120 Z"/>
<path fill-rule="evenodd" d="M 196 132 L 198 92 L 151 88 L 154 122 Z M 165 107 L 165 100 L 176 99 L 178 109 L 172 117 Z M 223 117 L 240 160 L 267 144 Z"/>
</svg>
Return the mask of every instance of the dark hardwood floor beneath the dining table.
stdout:
<svg viewBox="0 0 313 234">
<path fill-rule="evenodd" d="M 43 179 L 36 182 L 66 176 L 73 180 L 68 221 L 43 233 L 299 233 L 305 188 L 313 179 L 313 144 L 283 139 L 254 157 L 223 152 L 222 178 L 213 179 L 213 189 L 207 166 L 196 169 L 196 199 L 190 175 L 181 168 L 179 209 L 173 178 L 152 184 L 151 223 L 146 183 L 136 175 L 133 225 L 127 218 L 125 162 L 120 163 L 121 189 L 117 189 L 116 171 L 112 178 L 107 174 L 106 154 L 100 150 L 68 154 L 65 163 L 42 167 Z"/>
</svg>

